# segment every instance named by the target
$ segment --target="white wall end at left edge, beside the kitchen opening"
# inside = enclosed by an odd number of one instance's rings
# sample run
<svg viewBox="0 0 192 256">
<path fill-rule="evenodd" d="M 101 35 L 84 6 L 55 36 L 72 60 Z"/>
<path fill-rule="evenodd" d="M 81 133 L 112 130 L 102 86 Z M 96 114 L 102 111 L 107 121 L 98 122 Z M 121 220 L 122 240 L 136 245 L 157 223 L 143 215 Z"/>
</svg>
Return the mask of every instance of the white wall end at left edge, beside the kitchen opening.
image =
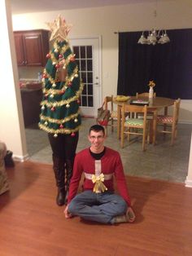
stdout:
<svg viewBox="0 0 192 256">
<path fill-rule="evenodd" d="M 27 149 L 9 1 L 1 1 L 0 16 L 0 139 L 15 153 L 15 157 L 24 160 L 24 157 L 27 157 Z"/>
</svg>

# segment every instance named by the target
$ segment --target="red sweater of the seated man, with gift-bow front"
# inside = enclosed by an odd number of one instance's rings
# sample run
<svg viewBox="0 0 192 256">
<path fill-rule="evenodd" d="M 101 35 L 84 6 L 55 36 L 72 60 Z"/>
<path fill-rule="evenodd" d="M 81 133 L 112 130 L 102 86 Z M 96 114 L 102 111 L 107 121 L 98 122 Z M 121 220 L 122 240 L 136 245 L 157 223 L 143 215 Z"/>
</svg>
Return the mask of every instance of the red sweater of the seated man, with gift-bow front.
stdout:
<svg viewBox="0 0 192 256">
<path fill-rule="evenodd" d="M 76 154 L 72 179 L 70 182 L 69 194 L 68 194 L 68 203 L 72 201 L 72 198 L 76 196 L 77 189 L 79 187 L 79 182 L 81 180 L 81 174 L 83 172 L 87 174 L 95 174 L 95 165 L 94 157 L 90 155 L 89 148 L 82 150 Z M 124 178 L 124 170 L 122 162 L 120 159 L 119 152 L 111 148 L 106 148 L 105 154 L 101 158 L 102 173 L 103 174 L 113 174 L 112 179 L 104 180 L 104 184 L 107 187 L 108 191 L 114 191 L 113 176 L 116 177 L 116 184 L 120 196 L 124 198 L 124 201 L 130 206 L 131 201 L 129 197 L 129 192 L 127 184 Z M 91 179 L 84 179 L 83 189 L 84 190 L 93 190 L 94 183 Z"/>
</svg>

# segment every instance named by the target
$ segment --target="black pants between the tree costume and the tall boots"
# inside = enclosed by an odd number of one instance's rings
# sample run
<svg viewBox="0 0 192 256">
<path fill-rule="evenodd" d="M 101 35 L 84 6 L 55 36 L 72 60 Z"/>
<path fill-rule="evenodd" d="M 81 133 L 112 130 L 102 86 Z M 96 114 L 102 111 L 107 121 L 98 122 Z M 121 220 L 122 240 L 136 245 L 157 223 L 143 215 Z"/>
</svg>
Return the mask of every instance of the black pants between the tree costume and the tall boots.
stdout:
<svg viewBox="0 0 192 256">
<path fill-rule="evenodd" d="M 59 134 L 56 138 L 53 134 L 48 134 L 48 137 L 53 157 L 63 159 L 64 161 L 74 160 L 79 132 L 76 132 L 74 137 L 63 134 Z"/>
</svg>

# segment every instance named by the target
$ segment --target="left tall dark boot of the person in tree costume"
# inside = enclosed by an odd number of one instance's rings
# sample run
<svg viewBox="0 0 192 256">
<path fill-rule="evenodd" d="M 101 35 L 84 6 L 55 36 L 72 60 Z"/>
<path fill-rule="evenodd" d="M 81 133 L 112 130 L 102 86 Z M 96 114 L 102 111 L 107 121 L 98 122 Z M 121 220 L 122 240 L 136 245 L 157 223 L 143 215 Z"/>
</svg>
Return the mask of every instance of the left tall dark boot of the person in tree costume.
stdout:
<svg viewBox="0 0 192 256">
<path fill-rule="evenodd" d="M 65 204 L 66 190 L 65 190 L 65 161 L 61 158 L 53 156 L 53 169 L 55 172 L 56 185 L 58 187 L 58 194 L 56 202 L 59 206 Z"/>
</svg>

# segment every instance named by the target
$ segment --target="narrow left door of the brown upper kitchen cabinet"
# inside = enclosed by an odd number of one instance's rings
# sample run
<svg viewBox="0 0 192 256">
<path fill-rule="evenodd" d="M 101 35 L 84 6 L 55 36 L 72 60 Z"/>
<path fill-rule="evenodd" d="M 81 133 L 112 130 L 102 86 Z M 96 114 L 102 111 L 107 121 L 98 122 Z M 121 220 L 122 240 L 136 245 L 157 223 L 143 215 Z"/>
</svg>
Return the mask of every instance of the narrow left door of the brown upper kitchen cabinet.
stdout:
<svg viewBox="0 0 192 256">
<path fill-rule="evenodd" d="M 18 66 L 24 66 L 24 44 L 22 33 L 15 33 L 15 51 Z"/>
</svg>

